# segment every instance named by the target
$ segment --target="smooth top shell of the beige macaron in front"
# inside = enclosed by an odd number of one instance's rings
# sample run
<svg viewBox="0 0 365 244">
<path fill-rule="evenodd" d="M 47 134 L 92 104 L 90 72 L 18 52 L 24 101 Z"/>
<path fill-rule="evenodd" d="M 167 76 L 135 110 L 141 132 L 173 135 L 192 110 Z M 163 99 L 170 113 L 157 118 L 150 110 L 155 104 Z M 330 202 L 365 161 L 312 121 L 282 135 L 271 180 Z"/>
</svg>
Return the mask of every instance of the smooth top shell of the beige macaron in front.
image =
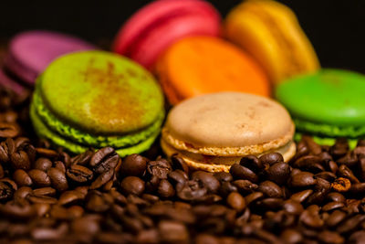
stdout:
<svg viewBox="0 0 365 244">
<path fill-rule="evenodd" d="M 245 147 L 291 138 L 294 133 L 283 106 L 241 92 L 212 93 L 183 101 L 170 111 L 165 128 L 193 147 Z"/>
</svg>

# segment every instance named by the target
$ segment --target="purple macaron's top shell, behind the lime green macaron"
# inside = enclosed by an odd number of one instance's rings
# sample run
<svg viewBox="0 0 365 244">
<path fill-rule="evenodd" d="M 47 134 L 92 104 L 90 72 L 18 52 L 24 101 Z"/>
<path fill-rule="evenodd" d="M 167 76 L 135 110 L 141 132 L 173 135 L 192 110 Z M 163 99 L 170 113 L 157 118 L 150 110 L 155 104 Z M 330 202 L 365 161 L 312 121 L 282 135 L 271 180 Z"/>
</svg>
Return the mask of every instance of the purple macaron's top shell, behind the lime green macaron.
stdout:
<svg viewBox="0 0 365 244">
<path fill-rule="evenodd" d="M 95 47 L 77 37 L 50 31 L 28 31 L 11 40 L 5 65 L 16 76 L 33 84 L 36 76 L 55 58 L 88 49 Z"/>
</svg>

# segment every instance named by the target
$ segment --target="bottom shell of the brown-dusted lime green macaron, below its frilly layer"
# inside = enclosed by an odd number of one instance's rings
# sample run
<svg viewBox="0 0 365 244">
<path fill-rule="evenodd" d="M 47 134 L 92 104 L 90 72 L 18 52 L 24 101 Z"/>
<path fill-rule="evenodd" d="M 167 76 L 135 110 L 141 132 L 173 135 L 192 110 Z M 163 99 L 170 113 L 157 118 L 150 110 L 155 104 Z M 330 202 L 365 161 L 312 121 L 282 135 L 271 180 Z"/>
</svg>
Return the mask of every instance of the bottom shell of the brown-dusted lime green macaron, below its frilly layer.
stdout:
<svg viewBox="0 0 365 244">
<path fill-rule="evenodd" d="M 81 154 L 89 149 L 89 145 L 72 142 L 51 131 L 47 127 L 47 125 L 39 118 L 38 114 L 36 113 L 34 103 L 31 103 L 30 105 L 30 118 L 33 122 L 33 127 L 36 131 L 36 134 L 40 138 L 47 138 L 50 140 L 51 143 L 54 143 L 57 146 L 62 146 L 74 154 Z M 160 130 L 157 130 L 152 133 L 149 138 L 146 138 L 141 143 L 134 144 L 129 147 L 117 148 L 116 152 L 117 154 L 120 154 L 121 157 L 129 154 L 140 154 L 141 152 L 146 151 L 151 147 L 151 144 L 155 141 L 159 133 Z"/>
</svg>

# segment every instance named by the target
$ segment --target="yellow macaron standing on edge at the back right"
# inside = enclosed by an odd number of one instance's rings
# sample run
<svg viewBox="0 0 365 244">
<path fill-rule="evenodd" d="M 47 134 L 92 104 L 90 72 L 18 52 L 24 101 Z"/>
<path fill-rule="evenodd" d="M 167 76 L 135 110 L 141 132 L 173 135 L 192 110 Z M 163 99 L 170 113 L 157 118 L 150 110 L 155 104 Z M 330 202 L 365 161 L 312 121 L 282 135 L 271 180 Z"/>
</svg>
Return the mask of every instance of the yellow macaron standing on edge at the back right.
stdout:
<svg viewBox="0 0 365 244">
<path fill-rule="evenodd" d="M 224 21 L 224 35 L 252 54 L 272 82 L 319 69 L 316 52 L 286 5 L 271 0 L 247 0 Z"/>
</svg>

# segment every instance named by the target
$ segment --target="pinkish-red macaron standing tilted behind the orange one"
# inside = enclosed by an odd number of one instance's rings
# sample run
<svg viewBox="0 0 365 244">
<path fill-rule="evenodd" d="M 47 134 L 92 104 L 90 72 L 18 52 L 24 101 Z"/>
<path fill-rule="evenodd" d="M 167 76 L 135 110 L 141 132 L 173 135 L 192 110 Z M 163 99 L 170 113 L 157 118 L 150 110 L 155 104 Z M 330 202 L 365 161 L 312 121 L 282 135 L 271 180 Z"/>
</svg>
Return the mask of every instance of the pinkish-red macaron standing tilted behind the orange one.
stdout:
<svg viewBox="0 0 365 244">
<path fill-rule="evenodd" d="M 202 0 L 161 0 L 142 7 L 120 28 L 113 50 L 151 69 L 173 42 L 191 36 L 218 36 L 221 17 Z"/>
</svg>

